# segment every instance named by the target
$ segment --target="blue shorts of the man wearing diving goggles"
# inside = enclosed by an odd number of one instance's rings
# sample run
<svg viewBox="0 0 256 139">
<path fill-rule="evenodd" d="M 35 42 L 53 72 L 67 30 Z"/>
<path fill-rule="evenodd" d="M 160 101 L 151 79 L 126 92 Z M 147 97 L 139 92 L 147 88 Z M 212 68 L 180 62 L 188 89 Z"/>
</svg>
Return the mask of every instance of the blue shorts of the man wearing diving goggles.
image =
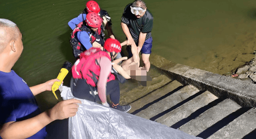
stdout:
<svg viewBox="0 0 256 139">
<path fill-rule="evenodd" d="M 152 36 L 147 40 L 145 40 L 144 44 L 142 45 L 142 49 L 140 51 L 141 54 L 151 54 L 152 41 L 153 41 Z M 136 43 L 136 45 L 138 45 L 138 43 Z M 129 52 L 129 58 L 131 58 L 133 56 L 131 46 L 127 46 L 127 50 Z"/>
</svg>

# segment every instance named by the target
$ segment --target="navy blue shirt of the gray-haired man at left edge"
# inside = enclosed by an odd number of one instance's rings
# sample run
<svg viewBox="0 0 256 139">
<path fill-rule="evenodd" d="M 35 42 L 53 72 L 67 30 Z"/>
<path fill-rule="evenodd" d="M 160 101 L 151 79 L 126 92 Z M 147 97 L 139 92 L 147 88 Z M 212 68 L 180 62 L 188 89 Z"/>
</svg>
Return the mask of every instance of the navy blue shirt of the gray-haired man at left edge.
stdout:
<svg viewBox="0 0 256 139">
<path fill-rule="evenodd" d="M 41 113 L 27 83 L 13 70 L 9 73 L 0 71 L 0 106 L 0 125 L 23 121 Z M 46 135 L 44 127 L 28 139 L 44 139 Z"/>
</svg>

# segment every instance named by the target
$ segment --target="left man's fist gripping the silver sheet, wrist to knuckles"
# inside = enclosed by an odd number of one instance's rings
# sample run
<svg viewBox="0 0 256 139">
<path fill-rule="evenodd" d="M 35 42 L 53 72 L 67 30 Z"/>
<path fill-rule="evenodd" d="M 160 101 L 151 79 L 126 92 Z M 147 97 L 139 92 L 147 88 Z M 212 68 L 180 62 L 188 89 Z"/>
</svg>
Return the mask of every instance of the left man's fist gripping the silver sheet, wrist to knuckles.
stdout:
<svg viewBox="0 0 256 139">
<path fill-rule="evenodd" d="M 77 103 L 81 103 L 81 101 L 77 99 L 63 100 L 48 111 L 49 117 L 52 121 L 73 117 L 78 111 L 79 105 Z"/>
</svg>

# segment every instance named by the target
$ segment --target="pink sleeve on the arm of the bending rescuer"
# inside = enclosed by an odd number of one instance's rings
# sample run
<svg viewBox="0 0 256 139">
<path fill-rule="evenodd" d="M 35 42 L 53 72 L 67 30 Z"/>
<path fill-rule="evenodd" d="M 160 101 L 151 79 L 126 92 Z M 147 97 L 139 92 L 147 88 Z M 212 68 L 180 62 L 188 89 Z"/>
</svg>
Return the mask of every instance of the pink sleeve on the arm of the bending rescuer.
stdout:
<svg viewBox="0 0 256 139">
<path fill-rule="evenodd" d="M 109 58 L 106 58 L 106 57 L 101 57 L 99 64 L 100 64 L 100 76 L 99 76 L 99 81 L 97 83 L 97 89 L 98 89 L 98 94 L 101 102 L 105 103 L 107 101 L 106 85 L 107 85 L 109 73 L 111 72 L 112 65 Z"/>
</svg>

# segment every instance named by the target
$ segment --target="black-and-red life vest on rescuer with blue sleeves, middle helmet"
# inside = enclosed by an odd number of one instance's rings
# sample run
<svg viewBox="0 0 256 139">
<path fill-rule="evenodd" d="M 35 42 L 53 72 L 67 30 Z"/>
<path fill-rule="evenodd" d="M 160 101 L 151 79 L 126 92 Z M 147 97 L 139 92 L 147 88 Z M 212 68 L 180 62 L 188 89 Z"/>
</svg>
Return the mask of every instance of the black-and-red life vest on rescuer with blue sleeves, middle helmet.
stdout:
<svg viewBox="0 0 256 139">
<path fill-rule="evenodd" d="M 71 32 L 70 44 L 73 47 L 73 49 L 79 49 L 81 51 L 84 51 L 84 49 L 82 49 L 81 47 L 81 43 L 75 36 L 76 32 L 78 31 L 86 31 L 90 36 L 91 44 L 95 42 L 96 38 L 95 36 L 92 35 L 92 32 L 90 31 L 90 29 L 83 24 L 83 22 L 80 22 L 79 24 L 76 25 L 74 30 Z"/>
</svg>

